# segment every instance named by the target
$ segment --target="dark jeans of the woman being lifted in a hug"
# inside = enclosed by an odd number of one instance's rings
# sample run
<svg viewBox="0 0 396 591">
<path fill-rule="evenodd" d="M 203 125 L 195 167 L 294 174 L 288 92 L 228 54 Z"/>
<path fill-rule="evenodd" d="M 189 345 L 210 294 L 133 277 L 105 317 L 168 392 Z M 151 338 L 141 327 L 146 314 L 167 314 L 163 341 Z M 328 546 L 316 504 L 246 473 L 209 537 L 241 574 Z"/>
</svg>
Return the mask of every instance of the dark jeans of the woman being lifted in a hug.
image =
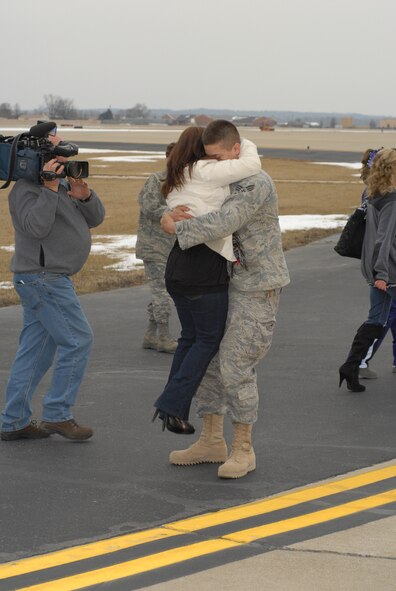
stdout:
<svg viewBox="0 0 396 591">
<path fill-rule="evenodd" d="M 179 316 L 181 335 L 168 383 L 154 406 L 164 413 L 187 420 L 191 400 L 224 334 L 228 292 L 170 295 Z"/>
</svg>

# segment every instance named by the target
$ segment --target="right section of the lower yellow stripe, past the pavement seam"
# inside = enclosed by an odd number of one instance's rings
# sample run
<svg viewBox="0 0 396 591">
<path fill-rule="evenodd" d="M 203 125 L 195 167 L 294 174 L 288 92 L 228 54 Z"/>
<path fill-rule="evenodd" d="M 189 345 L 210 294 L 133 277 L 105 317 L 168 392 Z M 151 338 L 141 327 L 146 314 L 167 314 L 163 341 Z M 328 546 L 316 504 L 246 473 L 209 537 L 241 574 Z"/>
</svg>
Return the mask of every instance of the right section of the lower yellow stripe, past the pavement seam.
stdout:
<svg viewBox="0 0 396 591">
<path fill-rule="evenodd" d="M 357 501 L 351 501 L 344 505 L 337 505 L 329 509 L 323 509 L 314 513 L 307 513 L 291 519 L 269 523 L 268 525 L 260 525 L 250 529 L 241 530 L 233 534 L 224 536 L 225 540 L 232 540 L 233 542 L 240 542 L 241 544 L 249 544 L 255 540 L 276 536 L 285 532 L 294 531 L 310 525 L 318 525 L 340 517 L 347 517 L 354 513 L 367 511 L 375 507 L 381 507 L 389 503 L 396 502 L 396 489 L 390 490 L 386 493 L 365 497 Z"/>
</svg>

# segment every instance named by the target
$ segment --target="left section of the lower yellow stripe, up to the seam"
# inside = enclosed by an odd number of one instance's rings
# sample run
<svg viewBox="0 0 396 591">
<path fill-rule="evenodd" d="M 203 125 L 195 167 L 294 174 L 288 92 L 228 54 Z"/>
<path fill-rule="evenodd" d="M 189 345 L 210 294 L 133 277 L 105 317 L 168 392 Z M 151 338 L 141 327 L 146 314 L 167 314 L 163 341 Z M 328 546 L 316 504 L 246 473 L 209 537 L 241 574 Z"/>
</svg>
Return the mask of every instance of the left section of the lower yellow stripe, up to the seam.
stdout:
<svg viewBox="0 0 396 591">
<path fill-rule="evenodd" d="M 213 554 L 221 550 L 228 550 L 240 546 L 238 542 L 229 540 L 210 540 L 208 542 L 199 542 L 189 546 L 181 546 L 173 550 L 166 550 L 158 554 L 152 554 L 145 558 L 137 558 L 114 566 L 100 568 L 80 575 L 73 575 L 64 579 L 56 579 L 48 583 L 39 583 L 31 587 L 23 587 L 15 591 L 75 591 L 91 585 L 100 585 L 116 579 L 124 579 L 138 575 L 155 568 L 162 568 L 178 562 L 184 562 L 198 556 Z"/>
</svg>

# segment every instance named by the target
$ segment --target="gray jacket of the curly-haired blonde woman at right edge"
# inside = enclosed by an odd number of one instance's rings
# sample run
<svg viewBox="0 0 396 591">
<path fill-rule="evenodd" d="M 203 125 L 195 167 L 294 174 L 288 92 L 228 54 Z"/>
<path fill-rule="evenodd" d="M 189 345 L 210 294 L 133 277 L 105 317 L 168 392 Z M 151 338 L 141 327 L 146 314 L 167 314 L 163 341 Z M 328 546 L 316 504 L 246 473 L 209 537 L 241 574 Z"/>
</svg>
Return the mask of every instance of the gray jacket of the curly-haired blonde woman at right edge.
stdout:
<svg viewBox="0 0 396 591">
<path fill-rule="evenodd" d="M 370 284 L 396 284 L 396 191 L 368 200 L 361 270 Z"/>
</svg>

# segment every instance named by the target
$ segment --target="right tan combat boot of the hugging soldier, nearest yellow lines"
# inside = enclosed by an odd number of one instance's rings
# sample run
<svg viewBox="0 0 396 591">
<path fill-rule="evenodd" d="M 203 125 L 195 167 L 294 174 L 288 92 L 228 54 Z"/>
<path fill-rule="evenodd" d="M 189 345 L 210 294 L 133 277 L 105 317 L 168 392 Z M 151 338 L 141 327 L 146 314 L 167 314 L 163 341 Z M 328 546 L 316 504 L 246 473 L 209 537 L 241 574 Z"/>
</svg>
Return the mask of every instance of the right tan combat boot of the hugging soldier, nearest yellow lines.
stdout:
<svg viewBox="0 0 396 591">
<path fill-rule="evenodd" d="M 256 469 L 256 456 L 252 446 L 252 425 L 234 423 L 234 439 L 228 460 L 219 467 L 220 478 L 241 478 Z"/>
</svg>

